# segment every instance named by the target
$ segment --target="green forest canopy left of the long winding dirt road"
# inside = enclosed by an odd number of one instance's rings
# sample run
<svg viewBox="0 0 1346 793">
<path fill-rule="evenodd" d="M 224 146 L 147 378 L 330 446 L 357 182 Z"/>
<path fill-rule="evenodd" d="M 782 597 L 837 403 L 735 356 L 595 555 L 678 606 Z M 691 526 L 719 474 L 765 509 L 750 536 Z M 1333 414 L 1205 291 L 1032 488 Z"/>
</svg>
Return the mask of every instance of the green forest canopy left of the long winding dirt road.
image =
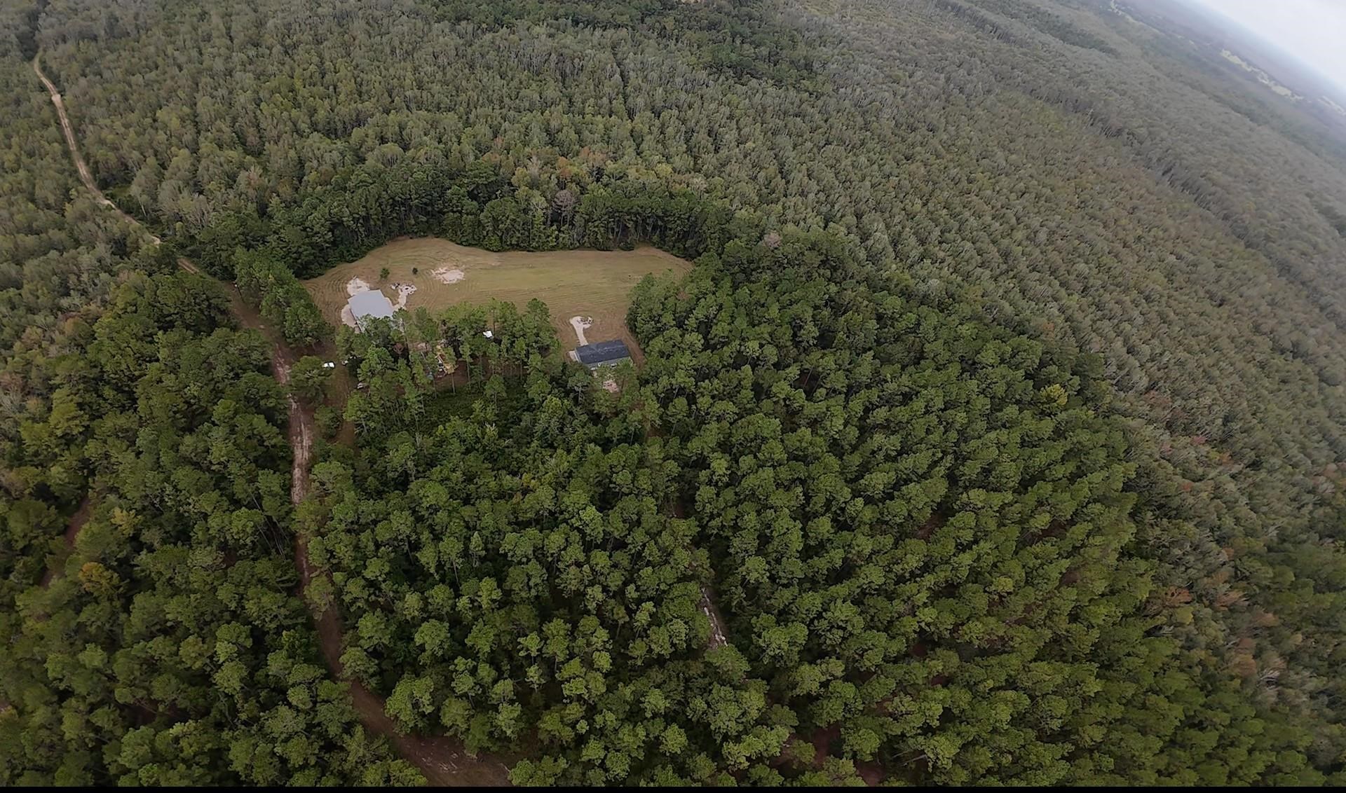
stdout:
<svg viewBox="0 0 1346 793">
<path fill-rule="evenodd" d="M 355 723 L 293 594 L 269 347 L 77 188 L 20 55 L 0 67 L 0 777 L 417 782 Z"/>
</svg>

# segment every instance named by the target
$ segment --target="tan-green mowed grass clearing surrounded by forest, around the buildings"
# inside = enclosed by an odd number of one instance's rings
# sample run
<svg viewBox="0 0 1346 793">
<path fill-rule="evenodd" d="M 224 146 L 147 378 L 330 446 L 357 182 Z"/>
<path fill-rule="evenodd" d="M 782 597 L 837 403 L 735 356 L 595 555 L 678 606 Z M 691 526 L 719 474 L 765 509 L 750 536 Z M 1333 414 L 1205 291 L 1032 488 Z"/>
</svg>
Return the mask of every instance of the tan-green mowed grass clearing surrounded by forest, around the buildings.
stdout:
<svg viewBox="0 0 1346 793">
<path fill-rule="evenodd" d="M 384 267 L 389 274 L 380 280 Z M 341 325 L 347 285 L 354 278 L 381 289 L 394 305 L 394 284 L 416 286 L 406 298 L 408 310 L 491 298 L 513 302 L 522 310 L 536 297 L 551 310 L 552 325 L 567 349 L 576 344 L 569 321 L 573 316 L 592 319 L 592 327 L 584 331 L 590 343 L 622 339 L 634 349 L 635 340 L 626 329 L 631 288 L 651 273 L 681 276 L 690 269 L 690 262 L 656 247 L 491 253 L 423 237 L 389 242 L 358 261 L 304 281 L 304 288 L 332 327 Z"/>
</svg>

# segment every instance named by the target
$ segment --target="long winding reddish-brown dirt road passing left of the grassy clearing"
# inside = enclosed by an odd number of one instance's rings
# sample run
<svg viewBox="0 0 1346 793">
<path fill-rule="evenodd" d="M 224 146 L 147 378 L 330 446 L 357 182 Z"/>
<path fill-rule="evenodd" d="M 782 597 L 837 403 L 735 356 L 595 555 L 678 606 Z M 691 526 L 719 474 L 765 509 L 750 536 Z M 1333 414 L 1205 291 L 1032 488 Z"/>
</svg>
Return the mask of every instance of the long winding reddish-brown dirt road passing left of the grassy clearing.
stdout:
<svg viewBox="0 0 1346 793">
<path fill-rule="evenodd" d="M 163 241 L 157 235 L 145 228 L 139 220 L 124 212 L 120 207 L 117 207 L 117 204 L 112 203 L 112 200 L 109 200 L 101 190 L 98 190 L 98 184 L 93 180 L 93 173 L 89 171 L 89 165 L 79 155 L 79 147 L 75 142 L 74 126 L 71 126 L 70 118 L 66 116 L 66 105 L 61 98 L 61 91 L 58 91 L 57 86 L 47 79 L 46 74 L 42 73 L 39 59 L 40 54 L 34 56 L 32 70 L 38 74 L 38 79 L 42 81 L 42 85 L 47 87 L 47 93 L 51 95 L 51 103 L 55 106 L 57 116 L 61 118 L 61 132 L 65 133 L 66 145 L 70 148 L 70 159 L 74 160 L 75 169 L 79 172 L 79 181 L 83 183 L 85 188 L 93 194 L 100 204 L 117 212 L 128 223 L 140 228 L 155 245 L 160 245 Z M 195 273 L 198 276 L 202 274 L 201 269 L 187 258 L 179 257 L 178 266 L 188 273 Z M 289 368 L 295 363 L 293 351 L 284 343 L 279 333 L 268 329 L 267 325 L 261 323 L 261 317 L 246 308 L 237 289 L 233 290 L 232 297 L 234 315 L 238 317 L 240 323 L 245 328 L 260 331 L 268 340 L 271 340 L 273 347 L 272 372 L 276 382 L 281 386 L 287 386 L 285 390 L 288 391 Z M 308 495 L 308 468 L 312 460 L 314 437 L 312 411 L 291 395 L 289 445 L 293 449 L 293 465 L 291 469 L 289 500 L 296 505 Z M 87 515 L 89 504 L 86 500 L 85 504 L 81 505 L 79 511 L 71 517 L 70 526 L 66 530 L 67 544 L 74 544 L 75 535 L 83 527 L 85 520 L 87 520 Z M 315 575 L 323 575 L 322 571 L 315 571 L 308 563 L 308 540 L 300 532 L 295 532 L 295 563 L 299 567 L 303 589 L 308 587 L 310 581 L 312 581 Z M 48 571 L 43 577 L 43 586 L 50 583 L 52 577 L 54 573 Z M 460 741 L 443 735 L 421 737 L 400 733 L 397 726 L 385 712 L 384 699 L 365 687 L 361 681 L 351 680 L 345 676 L 341 665 L 342 629 L 336 609 L 328 608 L 322 613 L 315 612 L 314 622 L 318 629 L 318 641 L 322 649 L 323 660 L 331 669 L 332 676 L 350 684 L 351 700 L 355 706 L 355 712 L 359 715 L 361 723 L 363 723 L 365 728 L 371 733 L 388 738 L 393 749 L 420 769 L 431 785 L 509 785 L 509 769 L 495 757 L 472 757 L 467 754 L 467 750 L 463 747 Z"/>
</svg>

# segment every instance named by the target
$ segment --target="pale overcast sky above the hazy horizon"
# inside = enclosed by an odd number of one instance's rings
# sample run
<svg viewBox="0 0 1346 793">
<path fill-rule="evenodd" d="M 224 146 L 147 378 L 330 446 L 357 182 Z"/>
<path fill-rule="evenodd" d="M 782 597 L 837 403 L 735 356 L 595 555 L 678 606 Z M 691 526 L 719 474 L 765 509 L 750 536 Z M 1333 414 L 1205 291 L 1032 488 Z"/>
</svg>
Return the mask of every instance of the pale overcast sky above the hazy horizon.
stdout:
<svg viewBox="0 0 1346 793">
<path fill-rule="evenodd" d="M 1299 56 L 1346 90 L 1346 0 L 1190 0 Z"/>
</svg>

